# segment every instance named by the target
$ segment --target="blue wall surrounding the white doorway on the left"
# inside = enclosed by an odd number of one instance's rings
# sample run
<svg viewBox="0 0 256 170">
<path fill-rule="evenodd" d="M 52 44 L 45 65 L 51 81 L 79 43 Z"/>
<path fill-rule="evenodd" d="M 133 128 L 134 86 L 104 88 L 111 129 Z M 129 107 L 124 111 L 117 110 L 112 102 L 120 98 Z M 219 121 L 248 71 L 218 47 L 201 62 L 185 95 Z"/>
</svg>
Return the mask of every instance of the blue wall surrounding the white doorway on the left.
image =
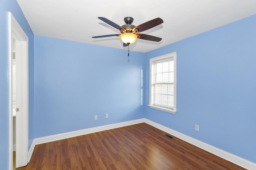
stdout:
<svg viewBox="0 0 256 170">
<path fill-rule="evenodd" d="M 9 158 L 9 66 L 8 12 L 12 12 L 29 39 L 29 139 L 34 139 L 34 34 L 16 0 L 0 1 L 0 167 L 8 169 Z"/>
</svg>

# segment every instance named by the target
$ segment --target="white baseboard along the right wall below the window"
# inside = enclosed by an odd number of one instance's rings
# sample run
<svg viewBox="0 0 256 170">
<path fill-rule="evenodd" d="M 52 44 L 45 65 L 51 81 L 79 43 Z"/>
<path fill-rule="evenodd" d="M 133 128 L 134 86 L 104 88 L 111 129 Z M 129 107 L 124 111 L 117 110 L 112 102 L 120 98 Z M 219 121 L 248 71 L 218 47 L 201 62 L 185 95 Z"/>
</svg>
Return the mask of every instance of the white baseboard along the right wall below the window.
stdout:
<svg viewBox="0 0 256 170">
<path fill-rule="evenodd" d="M 166 133 L 169 133 L 175 137 L 178 137 L 182 139 L 183 141 L 186 141 L 196 147 L 199 147 L 203 150 L 206 150 L 212 154 L 215 154 L 216 156 L 219 156 L 221 158 L 224 158 L 225 160 L 228 160 L 234 164 L 237 164 L 238 166 L 241 166 L 243 168 L 246 168 L 248 170 L 256 170 L 256 164 L 253 162 L 250 162 L 246 159 L 240 158 L 239 156 L 236 156 L 234 154 L 231 154 L 229 152 L 226 152 L 224 150 L 218 149 L 216 147 L 213 147 L 212 145 L 208 145 L 207 143 L 198 141 L 197 139 L 194 139 L 192 137 L 189 137 L 187 135 L 184 135 L 180 132 L 174 131 L 168 127 L 165 127 L 163 125 L 160 125 L 158 123 L 155 123 L 153 121 L 150 121 L 148 119 L 145 119 L 145 123 L 154 126 L 162 131 L 165 131 Z"/>
</svg>

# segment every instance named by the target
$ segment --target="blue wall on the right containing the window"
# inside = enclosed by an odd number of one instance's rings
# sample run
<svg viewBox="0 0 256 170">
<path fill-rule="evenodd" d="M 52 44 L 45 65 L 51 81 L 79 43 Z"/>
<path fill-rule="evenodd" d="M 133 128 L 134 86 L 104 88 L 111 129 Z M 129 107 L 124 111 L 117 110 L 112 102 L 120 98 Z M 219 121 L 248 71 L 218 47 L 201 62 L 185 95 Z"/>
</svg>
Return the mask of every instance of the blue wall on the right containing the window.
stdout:
<svg viewBox="0 0 256 170">
<path fill-rule="evenodd" d="M 146 53 L 178 52 L 177 113 L 145 106 L 145 117 L 256 163 L 255 47 L 256 15 Z"/>
</svg>

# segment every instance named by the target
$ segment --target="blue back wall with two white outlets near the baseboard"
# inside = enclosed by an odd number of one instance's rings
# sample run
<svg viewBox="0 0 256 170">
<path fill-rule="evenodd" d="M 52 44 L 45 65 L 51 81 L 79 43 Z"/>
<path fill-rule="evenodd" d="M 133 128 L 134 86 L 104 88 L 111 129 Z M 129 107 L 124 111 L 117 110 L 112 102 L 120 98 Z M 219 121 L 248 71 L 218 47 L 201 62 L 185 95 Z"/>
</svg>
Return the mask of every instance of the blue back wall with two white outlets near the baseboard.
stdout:
<svg viewBox="0 0 256 170">
<path fill-rule="evenodd" d="M 35 137 L 144 117 L 144 53 L 38 35 L 34 43 Z"/>
</svg>

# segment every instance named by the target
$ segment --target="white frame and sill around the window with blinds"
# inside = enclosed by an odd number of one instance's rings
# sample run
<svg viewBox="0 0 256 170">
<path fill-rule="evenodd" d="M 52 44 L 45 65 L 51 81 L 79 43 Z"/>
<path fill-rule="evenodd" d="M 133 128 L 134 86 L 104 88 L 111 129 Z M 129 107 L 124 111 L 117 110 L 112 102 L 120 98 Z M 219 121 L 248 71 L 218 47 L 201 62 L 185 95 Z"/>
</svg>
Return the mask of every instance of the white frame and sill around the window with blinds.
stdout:
<svg viewBox="0 0 256 170">
<path fill-rule="evenodd" d="M 176 79 L 176 57 L 177 57 L 177 53 L 176 52 L 173 52 L 173 53 L 169 53 L 169 54 L 166 54 L 166 55 L 162 55 L 162 56 L 159 56 L 159 57 L 154 57 L 152 59 L 149 59 L 150 60 L 150 88 L 149 88 L 149 107 L 151 108 L 154 108 L 154 109 L 158 109 L 158 110 L 162 110 L 162 111 L 166 111 L 166 112 L 169 112 L 169 113 L 176 113 L 176 97 L 177 97 L 177 93 L 176 93 L 176 87 L 177 87 L 177 79 Z M 162 107 L 162 106 L 156 106 L 153 104 L 153 100 L 152 100 L 152 94 L 153 94 L 153 83 L 154 83 L 154 80 L 152 80 L 152 64 L 154 64 L 155 61 L 159 61 L 159 60 L 166 60 L 166 59 L 169 59 L 169 58 L 173 58 L 173 61 L 174 61 L 174 108 L 171 109 L 171 108 L 167 108 L 167 107 Z"/>
</svg>

